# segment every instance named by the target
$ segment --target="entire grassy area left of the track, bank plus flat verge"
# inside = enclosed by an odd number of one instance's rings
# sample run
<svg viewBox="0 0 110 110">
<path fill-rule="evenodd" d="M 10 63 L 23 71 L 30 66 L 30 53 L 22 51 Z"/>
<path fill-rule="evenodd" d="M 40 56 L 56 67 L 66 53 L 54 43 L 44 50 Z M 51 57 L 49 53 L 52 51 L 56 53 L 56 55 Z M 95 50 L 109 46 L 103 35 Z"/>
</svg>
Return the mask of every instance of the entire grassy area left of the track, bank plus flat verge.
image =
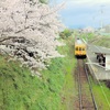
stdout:
<svg viewBox="0 0 110 110">
<path fill-rule="evenodd" d="M 66 57 L 52 59 L 51 66 L 42 72 L 42 79 L 32 76 L 26 67 L 21 68 L 19 62 L 7 62 L 9 56 L 0 55 L 0 110 L 67 110 L 75 66 L 69 41 L 73 44 L 67 38 L 67 45 L 59 48 Z"/>
</svg>

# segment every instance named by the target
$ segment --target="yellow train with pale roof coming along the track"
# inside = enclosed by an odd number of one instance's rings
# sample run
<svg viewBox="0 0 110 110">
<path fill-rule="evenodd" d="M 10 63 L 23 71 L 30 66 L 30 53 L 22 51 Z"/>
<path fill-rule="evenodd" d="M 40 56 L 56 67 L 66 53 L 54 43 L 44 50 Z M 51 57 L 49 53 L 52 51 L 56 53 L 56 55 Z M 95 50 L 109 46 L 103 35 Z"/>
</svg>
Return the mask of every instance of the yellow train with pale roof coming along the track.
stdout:
<svg viewBox="0 0 110 110">
<path fill-rule="evenodd" d="M 86 44 L 80 38 L 75 41 L 75 56 L 77 58 L 86 58 Z"/>
</svg>

